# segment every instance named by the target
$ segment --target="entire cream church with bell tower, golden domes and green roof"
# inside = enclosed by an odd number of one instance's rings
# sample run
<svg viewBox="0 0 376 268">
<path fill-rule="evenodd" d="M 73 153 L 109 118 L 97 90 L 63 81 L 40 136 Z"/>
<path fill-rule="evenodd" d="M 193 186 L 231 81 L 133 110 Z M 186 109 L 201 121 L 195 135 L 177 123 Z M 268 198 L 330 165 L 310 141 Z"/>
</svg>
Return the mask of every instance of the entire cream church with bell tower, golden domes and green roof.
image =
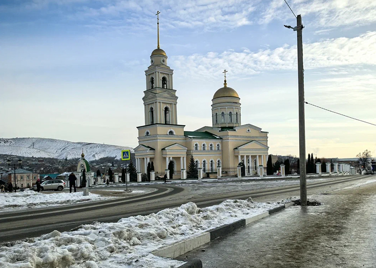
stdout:
<svg viewBox="0 0 376 268">
<path fill-rule="evenodd" d="M 185 131 L 185 125 L 178 123 L 174 70 L 159 46 L 159 17 L 157 31 L 157 48 L 145 71 L 144 125 L 137 127 L 139 145 L 134 149 L 139 177 L 147 173 L 151 162 L 156 176 L 166 173 L 169 177 L 172 161 L 173 178 L 185 179 L 191 155 L 203 177 L 217 171 L 223 176 L 231 175 L 239 164 L 245 176 L 266 173 L 268 132 L 252 124 L 242 124 L 240 97 L 234 88 L 227 86 L 226 70 L 223 86 L 213 90 L 212 126 Z"/>
</svg>

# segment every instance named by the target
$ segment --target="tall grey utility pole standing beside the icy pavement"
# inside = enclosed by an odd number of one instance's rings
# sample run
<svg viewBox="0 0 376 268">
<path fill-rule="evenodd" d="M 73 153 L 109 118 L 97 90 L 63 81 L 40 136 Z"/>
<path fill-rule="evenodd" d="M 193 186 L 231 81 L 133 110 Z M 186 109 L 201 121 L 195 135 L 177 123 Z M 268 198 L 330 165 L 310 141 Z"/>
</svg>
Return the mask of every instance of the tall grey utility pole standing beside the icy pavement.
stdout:
<svg viewBox="0 0 376 268">
<path fill-rule="evenodd" d="M 302 16 L 297 17 L 298 37 L 298 80 L 299 80 L 299 160 L 300 160 L 300 204 L 307 206 L 307 175 L 305 170 L 305 116 L 304 116 L 304 69 Z"/>
</svg>

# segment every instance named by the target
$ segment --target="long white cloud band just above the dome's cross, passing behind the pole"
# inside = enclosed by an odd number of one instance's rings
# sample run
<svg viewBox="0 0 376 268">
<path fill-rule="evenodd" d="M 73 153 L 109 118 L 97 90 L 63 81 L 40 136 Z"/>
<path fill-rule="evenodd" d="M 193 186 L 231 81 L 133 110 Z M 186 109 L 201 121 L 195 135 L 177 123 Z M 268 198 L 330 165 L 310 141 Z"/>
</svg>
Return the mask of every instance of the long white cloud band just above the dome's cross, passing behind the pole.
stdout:
<svg viewBox="0 0 376 268">
<path fill-rule="evenodd" d="M 367 32 L 354 38 L 322 39 L 304 43 L 303 47 L 305 70 L 338 70 L 341 66 L 376 64 L 376 32 Z M 222 53 L 208 52 L 205 55 L 176 56 L 172 57 L 172 60 L 175 69 L 179 69 L 180 73 L 186 76 L 213 77 L 219 70 L 226 69 L 234 77 L 241 78 L 264 71 L 296 70 L 297 48 L 285 44 L 274 50 L 228 50 Z"/>
</svg>

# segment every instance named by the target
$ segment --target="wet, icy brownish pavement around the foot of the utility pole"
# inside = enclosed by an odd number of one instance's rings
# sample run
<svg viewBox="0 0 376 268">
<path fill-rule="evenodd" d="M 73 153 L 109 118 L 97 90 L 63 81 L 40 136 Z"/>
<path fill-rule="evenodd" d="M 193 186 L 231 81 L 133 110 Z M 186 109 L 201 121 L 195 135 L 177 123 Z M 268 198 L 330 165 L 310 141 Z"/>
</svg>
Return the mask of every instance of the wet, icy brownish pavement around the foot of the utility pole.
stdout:
<svg viewBox="0 0 376 268">
<path fill-rule="evenodd" d="M 374 267 L 376 176 L 356 183 L 317 188 L 311 193 L 323 205 L 290 207 L 180 259 L 204 268 Z"/>
</svg>

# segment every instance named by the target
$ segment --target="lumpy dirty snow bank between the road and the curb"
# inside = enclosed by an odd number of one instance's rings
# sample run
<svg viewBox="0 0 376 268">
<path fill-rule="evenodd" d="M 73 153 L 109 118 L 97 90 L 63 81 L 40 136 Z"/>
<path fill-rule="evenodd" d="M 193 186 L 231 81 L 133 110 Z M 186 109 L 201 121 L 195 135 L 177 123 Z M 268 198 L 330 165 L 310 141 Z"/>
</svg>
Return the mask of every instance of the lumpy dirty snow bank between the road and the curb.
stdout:
<svg viewBox="0 0 376 268">
<path fill-rule="evenodd" d="M 203 231 L 265 212 L 277 203 L 226 200 L 200 209 L 190 202 L 147 216 L 96 222 L 76 231 L 53 231 L 0 248 L 0 267 L 177 267 L 183 262 L 156 257 L 157 248 Z"/>
</svg>

